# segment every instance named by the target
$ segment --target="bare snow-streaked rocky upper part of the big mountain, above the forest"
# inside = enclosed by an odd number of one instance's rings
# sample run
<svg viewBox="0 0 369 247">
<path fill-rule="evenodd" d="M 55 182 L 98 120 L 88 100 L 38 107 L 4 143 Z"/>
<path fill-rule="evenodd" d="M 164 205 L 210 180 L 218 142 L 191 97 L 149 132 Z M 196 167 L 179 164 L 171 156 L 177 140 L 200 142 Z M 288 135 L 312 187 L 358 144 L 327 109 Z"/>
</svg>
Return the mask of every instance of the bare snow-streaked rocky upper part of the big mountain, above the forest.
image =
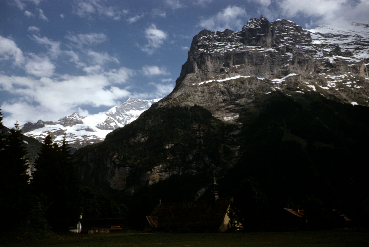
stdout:
<svg viewBox="0 0 369 247">
<path fill-rule="evenodd" d="M 199 104 L 235 120 L 242 106 L 276 90 L 368 106 L 368 65 L 368 23 L 304 30 L 262 16 L 238 32 L 196 35 L 175 89 L 155 106 Z"/>
</svg>

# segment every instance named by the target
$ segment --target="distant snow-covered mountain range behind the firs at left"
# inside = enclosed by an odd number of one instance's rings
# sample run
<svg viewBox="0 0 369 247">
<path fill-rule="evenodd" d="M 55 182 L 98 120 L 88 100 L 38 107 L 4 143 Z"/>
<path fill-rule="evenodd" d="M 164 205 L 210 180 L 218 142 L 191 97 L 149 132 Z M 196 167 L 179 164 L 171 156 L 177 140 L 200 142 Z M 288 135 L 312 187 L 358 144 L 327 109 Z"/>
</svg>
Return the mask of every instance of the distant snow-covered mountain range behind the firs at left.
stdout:
<svg viewBox="0 0 369 247">
<path fill-rule="evenodd" d="M 38 120 L 36 123 L 28 122 L 21 126 L 21 130 L 25 135 L 34 137 L 41 143 L 48 133 L 51 134 L 54 141 L 61 141 L 63 134 L 66 133 L 69 145 L 77 149 L 103 141 L 109 132 L 131 123 L 158 100 L 140 100 L 131 97 L 125 103 L 114 106 L 106 112 L 89 116 L 73 113 L 55 122 L 42 120 Z"/>
</svg>

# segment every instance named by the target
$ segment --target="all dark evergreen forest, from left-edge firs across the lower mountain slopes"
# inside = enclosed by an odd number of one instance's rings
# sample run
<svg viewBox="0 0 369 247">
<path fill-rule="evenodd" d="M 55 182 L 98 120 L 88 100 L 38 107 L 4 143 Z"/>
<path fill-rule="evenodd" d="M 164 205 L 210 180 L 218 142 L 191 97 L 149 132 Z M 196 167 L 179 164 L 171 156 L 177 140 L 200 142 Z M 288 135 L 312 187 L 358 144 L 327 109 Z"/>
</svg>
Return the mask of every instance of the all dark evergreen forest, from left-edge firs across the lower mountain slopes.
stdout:
<svg viewBox="0 0 369 247">
<path fill-rule="evenodd" d="M 332 210 L 352 219 L 354 227 L 366 227 L 367 140 L 367 107 L 318 94 L 292 98 L 275 92 L 245 106 L 237 123 L 215 119 L 197 105 L 175 106 L 149 109 L 104 142 L 75 154 L 67 140 L 59 147 L 48 136 L 29 181 L 16 124 L 10 134 L 1 135 L 0 205 L 9 212 L 2 220 L 59 231 L 75 224 L 82 213 L 85 219 L 124 217 L 128 227 L 143 229 L 145 216 L 159 199 L 194 200 L 211 183 L 214 169 L 220 196 L 234 198 L 245 230 L 280 230 L 286 207 L 304 209 L 307 229 L 337 227 L 330 220 Z M 165 147 L 168 143 L 171 148 Z M 240 144 L 239 158 L 227 167 L 232 143 Z M 89 165 L 87 156 L 99 165 L 113 155 L 115 165 L 135 167 L 126 186 L 134 186 L 134 193 L 111 189 L 99 178 L 100 168 L 83 179 L 78 174 Z M 139 183 L 140 172 L 165 162 L 182 173 L 150 186 Z"/>
</svg>

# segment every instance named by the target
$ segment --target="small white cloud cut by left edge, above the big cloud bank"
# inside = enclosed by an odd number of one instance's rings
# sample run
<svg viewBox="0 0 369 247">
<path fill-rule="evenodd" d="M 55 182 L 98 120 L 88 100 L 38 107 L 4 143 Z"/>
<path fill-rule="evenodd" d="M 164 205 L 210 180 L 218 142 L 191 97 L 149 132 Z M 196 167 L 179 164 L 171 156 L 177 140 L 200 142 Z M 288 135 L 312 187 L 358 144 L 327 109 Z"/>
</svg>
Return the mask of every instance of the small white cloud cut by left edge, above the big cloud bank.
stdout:
<svg viewBox="0 0 369 247">
<path fill-rule="evenodd" d="M 14 64 L 20 66 L 25 58 L 13 40 L 0 35 L 0 61 L 9 59 L 14 60 Z"/>
</svg>

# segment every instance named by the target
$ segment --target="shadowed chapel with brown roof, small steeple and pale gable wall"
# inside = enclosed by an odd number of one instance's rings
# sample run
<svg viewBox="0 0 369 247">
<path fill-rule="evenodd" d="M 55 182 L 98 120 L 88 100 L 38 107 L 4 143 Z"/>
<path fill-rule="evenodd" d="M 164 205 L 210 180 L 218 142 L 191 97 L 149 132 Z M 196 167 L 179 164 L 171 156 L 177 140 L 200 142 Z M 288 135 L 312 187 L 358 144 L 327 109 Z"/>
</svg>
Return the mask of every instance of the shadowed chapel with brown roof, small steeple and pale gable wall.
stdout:
<svg viewBox="0 0 369 247">
<path fill-rule="evenodd" d="M 146 216 L 154 229 L 188 229 L 195 231 L 230 230 L 232 198 L 219 198 L 218 184 L 213 178 L 209 200 L 159 203 L 150 216 Z"/>
</svg>

